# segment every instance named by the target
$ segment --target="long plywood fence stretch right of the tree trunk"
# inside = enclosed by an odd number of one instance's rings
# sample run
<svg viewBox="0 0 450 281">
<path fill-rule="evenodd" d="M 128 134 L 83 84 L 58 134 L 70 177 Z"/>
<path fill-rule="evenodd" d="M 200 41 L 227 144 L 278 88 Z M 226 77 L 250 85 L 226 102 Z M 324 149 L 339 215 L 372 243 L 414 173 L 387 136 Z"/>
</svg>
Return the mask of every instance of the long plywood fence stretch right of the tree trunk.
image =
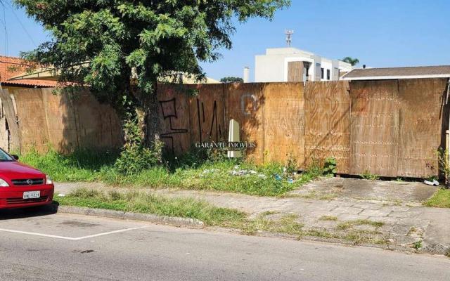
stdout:
<svg viewBox="0 0 450 281">
<path fill-rule="evenodd" d="M 159 96 L 175 98 L 176 113 L 161 122 L 175 153 L 226 139 L 233 118 L 241 140 L 257 144 L 248 155 L 257 163 L 295 158 L 305 169 L 335 157 L 340 174 L 424 177 L 437 174 L 436 151 L 448 128 L 446 82 L 218 84 L 197 86 L 196 97 L 165 86 Z"/>
</svg>

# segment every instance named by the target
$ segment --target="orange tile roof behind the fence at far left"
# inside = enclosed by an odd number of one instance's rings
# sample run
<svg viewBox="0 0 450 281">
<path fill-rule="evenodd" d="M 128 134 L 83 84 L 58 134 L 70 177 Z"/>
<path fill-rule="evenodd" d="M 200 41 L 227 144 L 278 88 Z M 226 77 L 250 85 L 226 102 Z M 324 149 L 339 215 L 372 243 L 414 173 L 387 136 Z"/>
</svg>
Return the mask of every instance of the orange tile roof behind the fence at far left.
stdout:
<svg viewBox="0 0 450 281">
<path fill-rule="evenodd" d="M 55 87 L 58 81 L 39 80 L 39 79 L 20 79 L 8 80 L 11 77 L 18 76 L 27 71 L 27 67 L 32 63 L 21 58 L 6 57 L 0 55 L 0 83 L 9 86 L 37 86 L 37 87 Z"/>
</svg>

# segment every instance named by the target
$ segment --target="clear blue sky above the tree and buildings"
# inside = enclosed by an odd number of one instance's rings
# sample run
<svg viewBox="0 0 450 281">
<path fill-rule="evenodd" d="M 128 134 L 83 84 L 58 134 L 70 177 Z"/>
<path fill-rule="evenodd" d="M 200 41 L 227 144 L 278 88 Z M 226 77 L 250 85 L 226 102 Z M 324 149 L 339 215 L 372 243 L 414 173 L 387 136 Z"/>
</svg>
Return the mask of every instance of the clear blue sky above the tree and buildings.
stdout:
<svg viewBox="0 0 450 281">
<path fill-rule="evenodd" d="M 50 39 L 25 11 L 0 5 L 0 54 L 18 55 Z M 450 0 L 292 0 L 272 21 L 236 22 L 233 48 L 202 63 L 207 76 L 254 75 L 255 55 L 286 46 L 285 30 L 294 30 L 292 46 L 326 58 L 358 58 L 368 67 L 450 65 Z"/>
</svg>

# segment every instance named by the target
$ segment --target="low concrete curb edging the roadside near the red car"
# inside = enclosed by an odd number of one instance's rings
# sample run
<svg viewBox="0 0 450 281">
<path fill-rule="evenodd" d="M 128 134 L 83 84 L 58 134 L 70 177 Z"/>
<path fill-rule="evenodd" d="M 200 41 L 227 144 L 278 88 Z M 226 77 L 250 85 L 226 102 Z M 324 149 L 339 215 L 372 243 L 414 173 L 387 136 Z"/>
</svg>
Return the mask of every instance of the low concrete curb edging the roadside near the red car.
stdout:
<svg viewBox="0 0 450 281">
<path fill-rule="evenodd" d="M 51 205 L 54 212 L 65 214 L 79 214 L 85 216 L 103 216 L 106 218 L 119 218 L 131 221 L 148 221 L 150 223 L 165 224 L 171 226 L 184 226 L 188 228 L 204 228 L 205 223 L 195 218 L 179 218 L 174 216 L 159 216 L 155 214 L 139 214 L 129 211 L 114 211 L 108 209 L 91 209 L 86 207 L 56 206 Z"/>
</svg>

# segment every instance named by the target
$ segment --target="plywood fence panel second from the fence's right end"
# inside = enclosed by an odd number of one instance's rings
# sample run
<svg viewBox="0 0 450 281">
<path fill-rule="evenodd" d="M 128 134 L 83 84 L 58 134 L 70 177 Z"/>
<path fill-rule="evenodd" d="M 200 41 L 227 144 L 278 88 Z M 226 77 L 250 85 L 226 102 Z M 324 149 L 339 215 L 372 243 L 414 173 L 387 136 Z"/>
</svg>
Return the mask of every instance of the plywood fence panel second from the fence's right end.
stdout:
<svg viewBox="0 0 450 281">
<path fill-rule="evenodd" d="M 397 80 L 350 84 L 350 174 L 397 176 L 399 92 Z"/>
</svg>

